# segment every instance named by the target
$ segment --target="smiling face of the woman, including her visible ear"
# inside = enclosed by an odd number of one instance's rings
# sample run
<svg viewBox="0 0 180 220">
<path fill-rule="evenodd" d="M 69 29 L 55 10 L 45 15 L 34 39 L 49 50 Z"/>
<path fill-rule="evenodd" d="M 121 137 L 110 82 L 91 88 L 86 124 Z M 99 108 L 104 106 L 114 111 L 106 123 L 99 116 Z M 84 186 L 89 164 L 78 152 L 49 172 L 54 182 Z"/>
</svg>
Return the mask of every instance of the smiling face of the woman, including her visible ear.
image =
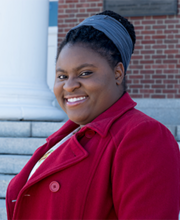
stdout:
<svg viewBox="0 0 180 220">
<path fill-rule="evenodd" d="M 85 125 L 121 97 L 121 66 L 112 70 L 105 58 L 85 46 L 64 46 L 56 64 L 54 94 L 70 120 Z"/>
</svg>

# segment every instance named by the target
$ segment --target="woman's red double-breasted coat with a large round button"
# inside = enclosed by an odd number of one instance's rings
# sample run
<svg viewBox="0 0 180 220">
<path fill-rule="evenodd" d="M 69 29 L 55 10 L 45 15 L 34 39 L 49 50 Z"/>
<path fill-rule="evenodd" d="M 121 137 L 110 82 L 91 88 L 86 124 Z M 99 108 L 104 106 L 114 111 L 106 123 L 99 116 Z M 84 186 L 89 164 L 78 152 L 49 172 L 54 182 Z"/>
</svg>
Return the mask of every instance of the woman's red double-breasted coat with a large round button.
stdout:
<svg viewBox="0 0 180 220">
<path fill-rule="evenodd" d="M 177 220 L 178 145 L 134 106 L 123 95 L 27 181 L 42 155 L 77 125 L 68 121 L 47 138 L 9 184 L 8 220 Z"/>
</svg>

